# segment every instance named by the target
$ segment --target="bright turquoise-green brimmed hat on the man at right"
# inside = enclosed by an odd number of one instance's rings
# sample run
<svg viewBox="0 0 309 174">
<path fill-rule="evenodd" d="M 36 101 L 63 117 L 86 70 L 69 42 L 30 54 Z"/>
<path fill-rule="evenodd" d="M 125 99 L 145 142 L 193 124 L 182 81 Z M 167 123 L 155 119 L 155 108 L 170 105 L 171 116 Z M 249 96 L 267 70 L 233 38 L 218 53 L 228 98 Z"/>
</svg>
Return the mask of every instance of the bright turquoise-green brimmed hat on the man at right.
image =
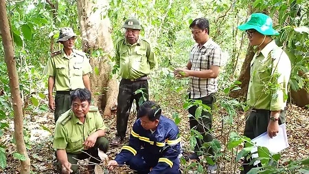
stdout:
<svg viewBox="0 0 309 174">
<path fill-rule="evenodd" d="M 238 26 L 239 30 L 254 29 L 267 36 L 278 35 L 279 32 L 273 29 L 273 20 L 266 14 L 253 13 L 250 15 L 247 23 Z"/>
</svg>

